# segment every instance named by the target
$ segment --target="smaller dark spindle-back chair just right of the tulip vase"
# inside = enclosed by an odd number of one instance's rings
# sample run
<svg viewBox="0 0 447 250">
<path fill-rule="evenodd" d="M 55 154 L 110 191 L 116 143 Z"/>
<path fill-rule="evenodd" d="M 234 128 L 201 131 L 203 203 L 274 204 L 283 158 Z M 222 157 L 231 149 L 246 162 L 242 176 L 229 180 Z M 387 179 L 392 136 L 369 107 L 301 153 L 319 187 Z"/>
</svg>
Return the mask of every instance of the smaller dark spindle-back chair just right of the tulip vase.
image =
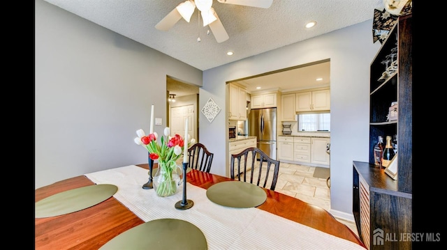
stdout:
<svg viewBox="0 0 447 250">
<path fill-rule="evenodd" d="M 189 167 L 199 171 L 210 173 L 214 153 L 207 150 L 202 143 L 193 144 L 188 148 Z"/>
</svg>

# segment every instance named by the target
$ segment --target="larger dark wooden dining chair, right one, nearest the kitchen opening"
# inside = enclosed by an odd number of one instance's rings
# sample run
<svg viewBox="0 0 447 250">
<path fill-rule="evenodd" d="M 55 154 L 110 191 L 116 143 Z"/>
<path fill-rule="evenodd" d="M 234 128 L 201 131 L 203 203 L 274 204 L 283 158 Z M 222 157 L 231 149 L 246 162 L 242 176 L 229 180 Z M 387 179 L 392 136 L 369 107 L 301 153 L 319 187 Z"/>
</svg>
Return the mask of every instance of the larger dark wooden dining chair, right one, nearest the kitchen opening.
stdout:
<svg viewBox="0 0 447 250">
<path fill-rule="evenodd" d="M 230 178 L 235 179 L 237 176 L 237 180 L 241 180 L 242 175 L 244 182 L 274 190 L 278 180 L 279 163 L 279 160 L 270 158 L 259 148 L 246 148 L 241 153 L 231 155 Z"/>
</svg>

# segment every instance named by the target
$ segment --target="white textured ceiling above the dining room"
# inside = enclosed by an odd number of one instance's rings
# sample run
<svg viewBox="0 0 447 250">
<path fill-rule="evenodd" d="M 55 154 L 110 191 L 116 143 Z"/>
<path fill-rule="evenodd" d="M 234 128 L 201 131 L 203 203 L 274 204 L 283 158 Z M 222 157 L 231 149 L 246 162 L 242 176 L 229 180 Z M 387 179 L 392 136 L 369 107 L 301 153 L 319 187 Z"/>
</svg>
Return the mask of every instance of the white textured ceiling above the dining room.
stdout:
<svg viewBox="0 0 447 250">
<path fill-rule="evenodd" d="M 273 0 L 270 8 L 219 3 L 212 7 L 230 38 L 218 43 L 207 27 L 180 19 L 169 31 L 154 26 L 184 0 L 45 0 L 111 31 L 208 70 L 372 19 L 383 0 Z M 305 23 L 317 22 L 312 29 Z M 197 42 L 200 36 L 201 42 Z M 233 56 L 227 56 L 228 50 Z"/>
</svg>

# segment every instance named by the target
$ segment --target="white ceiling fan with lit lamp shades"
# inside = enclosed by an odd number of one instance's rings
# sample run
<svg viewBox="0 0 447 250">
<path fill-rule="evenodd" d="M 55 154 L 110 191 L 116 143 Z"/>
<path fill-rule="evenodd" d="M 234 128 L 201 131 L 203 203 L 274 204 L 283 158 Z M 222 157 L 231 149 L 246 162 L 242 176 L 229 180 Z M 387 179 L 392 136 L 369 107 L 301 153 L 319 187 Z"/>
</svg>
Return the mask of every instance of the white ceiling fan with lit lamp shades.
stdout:
<svg viewBox="0 0 447 250">
<path fill-rule="evenodd" d="M 217 0 L 219 3 L 229 3 L 241 6 L 250 6 L 257 8 L 270 8 L 273 0 Z M 228 40 L 229 36 L 216 11 L 212 6 L 212 0 L 186 0 L 175 7 L 166 17 L 155 25 L 155 29 L 159 31 L 168 31 L 183 17 L 186 22 L 189 22 L 191 15 L 193 15 L 196 7 L 202 16 L 203 26 L 209 26 L 214 38 L 217 42 L 224 42 Z M 198 38 L 200 42 L 200 38 Z"/>
</svg>

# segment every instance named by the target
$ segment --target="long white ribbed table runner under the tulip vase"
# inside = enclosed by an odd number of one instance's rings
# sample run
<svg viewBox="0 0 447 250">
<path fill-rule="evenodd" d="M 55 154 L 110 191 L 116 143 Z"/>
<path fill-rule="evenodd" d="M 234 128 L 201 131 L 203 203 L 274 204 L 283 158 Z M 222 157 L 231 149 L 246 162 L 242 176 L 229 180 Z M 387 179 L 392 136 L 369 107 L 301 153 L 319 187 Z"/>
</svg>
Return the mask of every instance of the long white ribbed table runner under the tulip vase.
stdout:
<svg viewBox="0 0 447 250">
<path fill-rule="evenodd" d="M 194 205 L 177 210 L 182 190 L 168 197 L 154 189 L 142 189 L 147 169 L 123 166 L 85 176 L 96 184 L 118 187 L 114 197 L 143 221 L 173 218 L 196 225 L 206 237 L 208 249 L 364 249 L 360 245 L 258 208 L 227 208 L 212 203 L 206 189 L 186 184 L 186 198 Z"/>
</svg>

